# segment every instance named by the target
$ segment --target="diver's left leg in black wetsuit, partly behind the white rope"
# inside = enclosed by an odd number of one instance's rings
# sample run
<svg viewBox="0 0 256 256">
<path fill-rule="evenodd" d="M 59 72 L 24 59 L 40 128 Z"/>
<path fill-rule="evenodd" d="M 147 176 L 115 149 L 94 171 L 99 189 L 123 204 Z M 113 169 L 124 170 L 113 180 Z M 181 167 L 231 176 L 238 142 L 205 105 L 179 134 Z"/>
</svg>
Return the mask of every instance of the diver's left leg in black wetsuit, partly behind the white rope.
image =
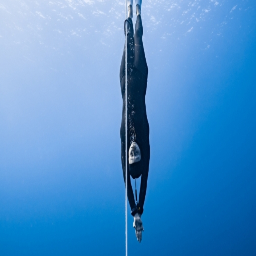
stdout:
<svg viewBox="0 0 256 256">
<path fill-rule="evenodd" d="M 128 18 L 129 22 L 127 22 L 127 67 L 128 69 L 133 68 L 133 57 L 134 57 L 134 38 L 133 38 L 133 21 L 131 18 Z M 120 82 L 123 76 L 125 75 L 125 45 L 123 49 L 123 57 L 121 61 L 120 67 Z"/>
</svg>

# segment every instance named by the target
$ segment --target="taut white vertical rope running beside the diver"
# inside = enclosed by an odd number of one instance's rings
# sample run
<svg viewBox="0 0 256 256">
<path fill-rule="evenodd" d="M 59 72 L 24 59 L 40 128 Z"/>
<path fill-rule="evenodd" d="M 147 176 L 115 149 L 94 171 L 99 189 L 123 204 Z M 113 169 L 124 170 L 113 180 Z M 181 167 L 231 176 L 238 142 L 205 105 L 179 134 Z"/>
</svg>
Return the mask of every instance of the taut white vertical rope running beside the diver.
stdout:
<svg viewBox="0 0 256 256">
<path fill-rule="evenodd" d="M 127 0 L 125 1 L 125 19 L 127 19 Z M 125 255 L 128 256 L 127 232 L 127 22 L 125 22 Z"/>
</svg>

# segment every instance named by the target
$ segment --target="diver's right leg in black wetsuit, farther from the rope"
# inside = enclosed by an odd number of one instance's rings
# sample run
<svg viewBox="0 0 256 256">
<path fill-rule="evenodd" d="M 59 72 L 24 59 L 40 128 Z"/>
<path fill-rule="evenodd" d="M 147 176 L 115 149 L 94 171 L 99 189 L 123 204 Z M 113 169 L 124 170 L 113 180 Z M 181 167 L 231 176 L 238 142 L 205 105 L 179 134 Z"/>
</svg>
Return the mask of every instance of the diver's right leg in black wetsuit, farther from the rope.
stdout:
<svg viewBox="0 0 256 256">
<path fill-rule="evenodd" d="M 134 34 L 134 66 L 141 71 L 144 76 L 148 76 L 148 66 L 146 62 L 143 42 L 143 26 L 141 15 L 137 15 L 135 34 Z"/>
</svg>

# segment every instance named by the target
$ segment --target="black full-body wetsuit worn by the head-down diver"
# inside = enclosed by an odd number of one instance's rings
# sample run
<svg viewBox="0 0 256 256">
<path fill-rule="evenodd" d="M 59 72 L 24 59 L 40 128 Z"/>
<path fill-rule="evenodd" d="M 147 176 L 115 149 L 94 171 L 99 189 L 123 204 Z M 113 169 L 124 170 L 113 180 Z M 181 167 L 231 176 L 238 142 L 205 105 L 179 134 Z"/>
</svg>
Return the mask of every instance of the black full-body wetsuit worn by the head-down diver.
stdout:
<svg viewBox="0 0 256 256">
<path fill-rule="evenodd" d="M 127 69 L 128 69 L 128 82 L 127 82 L 127 105 L 128 105 L 128 143 L 127 143 L 127 157 L 129 147 L 134 141 L 131 134 L 135 131 L 136 143 L 141 150 L 141 160 L 139 162 L 128 163 L 128 200 L 131 207 L 131 214 L 134 216 L 136 213 L 143 213 L 143 205 L 146 196 L 147 180 L 148 180 L 148 167 L 150 157 L 149 147 L 149 125 L 146 115 L 145 95 L 147 88 L 148 67 L 143 48 L 142 34 L 143 27 L 141 15 L 137 16 L 135 25 L 135 34 L 133 36 L 133 22 L 128 18 L 127 22 L 128 35 L 127 35 Z M 123 57 L 120 67 L 120 83 L 121 92 L 123 97 L 123 114 L 120 129 L 121 136 L 121 160 L 123 168 L 123 177 L 125 180 L 125 48 L 123 50 Z M 141 187 L 139 193 L 139 202 L 135 205 L 133 189 L 131 186 L 131 177 L 133 179 L 141 176 Z"/>
</svg>

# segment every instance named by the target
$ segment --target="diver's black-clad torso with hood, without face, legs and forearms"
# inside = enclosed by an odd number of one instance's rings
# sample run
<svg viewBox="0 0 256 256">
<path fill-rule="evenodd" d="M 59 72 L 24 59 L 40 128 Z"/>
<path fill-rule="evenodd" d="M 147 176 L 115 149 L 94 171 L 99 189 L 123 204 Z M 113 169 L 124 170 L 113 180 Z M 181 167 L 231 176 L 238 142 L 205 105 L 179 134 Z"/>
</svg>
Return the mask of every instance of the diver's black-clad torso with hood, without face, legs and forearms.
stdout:
<svg viewBox="0 0 256 256">
<path fill-rule="evenodd" d="M 138 69 L 128 69 L 127 153 L 133 141 L 136 141 L 141 151 L 141 160 L 133 164 L 128 164 L 129 174 L 133 179 L 141 176 L 142 171 L 146 168 L 146 166 L 148 166 L 149 162 L 149 125 L 145 104 L 146 88 L 147 77 L 144 76 Z M 123 113 L 120 136 L 123 148 L 123 146 L 125 147 L 125 76 L 121 80 L 121 92 L 123 97 Z M 135 137 L 131 136 L 132 133 L 135 134 Z M 122 157 L 125 157 L 124 151 Z M 123 168 L 125 168 L 124 165 Z"/>
</svg>

